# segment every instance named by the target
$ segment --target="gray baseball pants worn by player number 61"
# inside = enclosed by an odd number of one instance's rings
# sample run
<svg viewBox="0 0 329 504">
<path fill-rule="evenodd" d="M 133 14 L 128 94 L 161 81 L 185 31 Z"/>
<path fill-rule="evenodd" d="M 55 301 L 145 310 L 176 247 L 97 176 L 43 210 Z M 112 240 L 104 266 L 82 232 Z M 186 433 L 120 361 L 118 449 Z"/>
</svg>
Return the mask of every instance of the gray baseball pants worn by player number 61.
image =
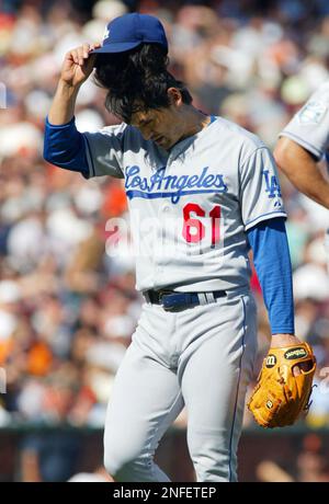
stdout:
<svg viewBox="0 0 329 504">
<path fill-rule="evenodd" d="M 107 408 L 104 463 L 115 481 L 170 481 L 154 455 L 184 405 L 197 481 L 236 481 L 256 354 L 249 293 L 177 313 L 144 303 Z"/>
</svg>

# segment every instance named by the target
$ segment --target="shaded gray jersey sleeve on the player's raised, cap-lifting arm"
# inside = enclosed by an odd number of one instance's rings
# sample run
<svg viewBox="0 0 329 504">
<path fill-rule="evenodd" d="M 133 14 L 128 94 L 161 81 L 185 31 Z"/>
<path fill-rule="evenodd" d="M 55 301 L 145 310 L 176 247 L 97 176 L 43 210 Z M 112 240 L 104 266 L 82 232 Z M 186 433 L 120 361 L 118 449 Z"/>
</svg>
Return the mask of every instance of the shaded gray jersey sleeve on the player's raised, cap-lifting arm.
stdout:
<svg viewBox="0 0 329 504">
<path fill-rule="evenodd" d="M 97 133 L 83 133 L 89 176 L 112 175 L 123 179 L 125 124 Z"/>
</svg>

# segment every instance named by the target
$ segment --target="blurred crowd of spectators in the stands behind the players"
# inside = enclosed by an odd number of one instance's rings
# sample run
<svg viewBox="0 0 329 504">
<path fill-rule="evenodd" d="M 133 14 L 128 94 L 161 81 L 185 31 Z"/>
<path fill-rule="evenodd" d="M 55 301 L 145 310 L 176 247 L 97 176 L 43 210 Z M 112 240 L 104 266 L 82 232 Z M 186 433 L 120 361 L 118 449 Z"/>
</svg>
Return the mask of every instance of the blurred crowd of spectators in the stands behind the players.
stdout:
<svg viewBox="0 0 329 504">
<path fill-rule="evenodd" d="M 188 83 L 195 105 L 240 124 L 273 148 L 292 115 L 329 78 L 329 3 L 2 0 L 0 5 L 0 367 L 7 375 L 0 427 L 102 428 L 141 297 L 128 251 L 123 247 L 120 256 L 112 256 L 105 247 L 109 219 L 126 218 L 122 182 L 86 181 L 42 157 L 44 119 L 65 53 L 101 41 L 105 24 L 125 12 L 155 14 L 168 34 L 171 71 Z M 90 79 L 78 99 L 81 131 L 117 122 L 103 102 L 104 91 Z M 318 359 L 318 387 L 304 424 L 324 428 L 329 426 L 328 211 L 282 175 L 281 184 L 296 334 L 314 345 Z M 256 276 L 252 289 L 259 305 L 260 366 L 270 329 Z M 177 425 L 184 427 L 185 421 L 182 414 Z M 252 426 L 247 412 L 245 425 Z M 67 479 L 79 443 L 73 435 L 27 433 L 11 477 Z M 313 481 L 329 481 L 329 453 L 322 459 L 321 446 L 316 437 L 300 448 L 300 460 L 309 465 L 304 473 Z M 303 449 L 317 460 L 303 459 Z M 275 460 L 261 463 L 260 481 L 283 470 Z"/>
</svg>

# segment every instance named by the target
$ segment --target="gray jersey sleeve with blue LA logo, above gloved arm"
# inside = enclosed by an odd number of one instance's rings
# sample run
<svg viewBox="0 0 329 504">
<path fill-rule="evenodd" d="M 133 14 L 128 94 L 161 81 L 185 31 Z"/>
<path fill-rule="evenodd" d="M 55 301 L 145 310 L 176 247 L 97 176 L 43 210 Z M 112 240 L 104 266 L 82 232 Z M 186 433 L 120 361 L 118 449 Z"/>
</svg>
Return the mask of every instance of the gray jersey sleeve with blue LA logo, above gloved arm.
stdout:
<svg viewBox="0 0 329 504">
<path fill-rule="evenodd" d="M 240 167 L 240 204 L 245 230 L 262 220 L 286 217 L 273 156 L 259 147 Z"/>
</svg>

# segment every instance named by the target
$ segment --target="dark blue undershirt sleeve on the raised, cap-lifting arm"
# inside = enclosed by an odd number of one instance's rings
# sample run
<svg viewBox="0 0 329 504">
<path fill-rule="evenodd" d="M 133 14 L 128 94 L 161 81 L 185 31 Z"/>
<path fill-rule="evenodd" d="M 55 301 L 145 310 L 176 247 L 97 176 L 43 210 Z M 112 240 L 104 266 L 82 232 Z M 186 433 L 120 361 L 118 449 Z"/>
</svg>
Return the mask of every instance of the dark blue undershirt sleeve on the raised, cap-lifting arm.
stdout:
<svg viewBox="0 0 329 504">
<path fill-rule="evenodd" d="M 66 124 L 45 123 L 44 159 L 56 167 L 80 172 L 89 179 L 89 165 L 82 133 L 76 127 L 75 117 Z"/>
</svg>

